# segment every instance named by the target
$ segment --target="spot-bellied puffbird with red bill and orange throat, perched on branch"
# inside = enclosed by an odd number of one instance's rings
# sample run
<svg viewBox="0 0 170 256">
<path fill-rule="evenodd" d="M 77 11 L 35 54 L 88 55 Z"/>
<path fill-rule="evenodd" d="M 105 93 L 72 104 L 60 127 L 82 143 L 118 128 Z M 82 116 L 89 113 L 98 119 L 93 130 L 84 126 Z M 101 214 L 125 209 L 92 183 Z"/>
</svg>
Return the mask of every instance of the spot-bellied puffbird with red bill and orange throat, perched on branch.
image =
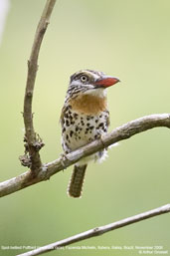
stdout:
<svg viewBox="0 0 170 256">
<path fill-rule="evenodd" d="M 60 118 L 65 155 L 107 133 L 109 112 L 106 89 L 118 82 L 118 78 L 93 70 L 81 70 L 71 76 Z M 101 161 L 105 155 L 104 148 L 74 165 L 68 186 L 69 196 L 82 197 L 87 163 L 91 160 Z"/>
</svg>

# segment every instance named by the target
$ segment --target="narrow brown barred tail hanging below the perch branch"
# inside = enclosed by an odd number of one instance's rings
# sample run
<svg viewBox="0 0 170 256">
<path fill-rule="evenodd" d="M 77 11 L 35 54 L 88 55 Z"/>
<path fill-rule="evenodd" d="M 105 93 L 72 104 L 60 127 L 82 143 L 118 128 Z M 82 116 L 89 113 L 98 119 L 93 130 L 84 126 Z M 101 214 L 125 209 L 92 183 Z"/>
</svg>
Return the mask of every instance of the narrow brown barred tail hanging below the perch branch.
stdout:
<svg viewBox="0 0 170 256">
<path fill-rule="evenodd" d="M 68 194 L 72 197 L 78 198 L 82 195 L 86 166 L 87 164 L 74 166 L 71 181 L 68 187 Z"/>
</svg>

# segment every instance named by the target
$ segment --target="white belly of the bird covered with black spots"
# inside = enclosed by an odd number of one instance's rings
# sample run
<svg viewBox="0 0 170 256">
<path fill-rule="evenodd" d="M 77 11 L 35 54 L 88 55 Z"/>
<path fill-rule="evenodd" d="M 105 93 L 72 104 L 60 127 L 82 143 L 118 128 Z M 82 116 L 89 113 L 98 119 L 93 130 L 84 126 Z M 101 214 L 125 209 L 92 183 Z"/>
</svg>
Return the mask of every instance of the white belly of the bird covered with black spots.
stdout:
<svg viewBox="0 0 170 256">
<path fill-rule="evenodd" d="M 78 114 L 69 110 L 63 120 L 62 144 L 64 151 L 69 153 L 107 132 L 108 112 L 95 116 Z M 105 150 L 92 154 L 90 158 L 100 158 Z"/>
</svg>

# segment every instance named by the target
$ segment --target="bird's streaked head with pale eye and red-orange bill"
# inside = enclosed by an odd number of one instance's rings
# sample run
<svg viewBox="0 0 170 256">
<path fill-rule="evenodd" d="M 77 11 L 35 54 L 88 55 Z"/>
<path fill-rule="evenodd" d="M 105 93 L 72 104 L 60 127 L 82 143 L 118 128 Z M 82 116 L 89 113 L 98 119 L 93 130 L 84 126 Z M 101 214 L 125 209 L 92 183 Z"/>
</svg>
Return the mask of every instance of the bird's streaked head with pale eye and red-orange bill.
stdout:
<svg viewBox="0 0 170 256">
<path fill-rule="evenodd" d="M 68 93 L 72 97 L 82 94 L 104 97 L 105 89 L 117 82 L 119 79 L 106 76 L 102 72 L 83 70 L 71 76 Z"/>
</svg>

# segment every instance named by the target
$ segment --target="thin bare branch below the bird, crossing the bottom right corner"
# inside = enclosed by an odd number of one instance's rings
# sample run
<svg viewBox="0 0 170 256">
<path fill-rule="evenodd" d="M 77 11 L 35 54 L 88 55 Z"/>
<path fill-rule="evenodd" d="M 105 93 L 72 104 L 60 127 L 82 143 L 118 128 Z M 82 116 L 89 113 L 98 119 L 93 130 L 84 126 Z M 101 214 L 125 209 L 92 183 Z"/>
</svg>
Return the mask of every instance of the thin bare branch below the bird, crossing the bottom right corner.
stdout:
<svg viewBox="0 0 170 256">
<path fill-rule="evenodd" d="M 80 234 L 71 236 L 69 238 L 66 238 L 64 240 L 61 240 L 61 241 L 58 241 L 58 242 L 40 247 L 40 248 L 35 249 L 33 251 L 22 253 L 18 256 L 40 255 L 40 254 L 43 254 L 43 253 L 46 253 L 46 252 L 49 252 L 49 251 L 57 250 L 62 246 L 73 244 L 75 242 L 80 242 L 80 241 L 83 241 L 83 240 L 88 239 L 90 237 L 99 236 L 99 235 L 102 235 L 106 232 L 112 231 L 114 229 L 121 228 L 121 227 L 130 225 L 130 224 L 133 224 L 135 222 L 139 222 L 141 220 L 152 218 L 154 216 L 164 214 L 164 213 L 168 213 L 168 212 L 170 212 L 170 204 L 163 205 L 163 206 L 158 207 L 156 209 L 149 210 L 149 211 L 134 215 L 132 217 L 128 217 L 128 218 L 125 218 L 125 219 L 107 224 L 105 226 L 100 226 L 100 227 L 96 227 L 96 228 L 87 230 L 83 233 L 80 233 Z"/>
</svg>

